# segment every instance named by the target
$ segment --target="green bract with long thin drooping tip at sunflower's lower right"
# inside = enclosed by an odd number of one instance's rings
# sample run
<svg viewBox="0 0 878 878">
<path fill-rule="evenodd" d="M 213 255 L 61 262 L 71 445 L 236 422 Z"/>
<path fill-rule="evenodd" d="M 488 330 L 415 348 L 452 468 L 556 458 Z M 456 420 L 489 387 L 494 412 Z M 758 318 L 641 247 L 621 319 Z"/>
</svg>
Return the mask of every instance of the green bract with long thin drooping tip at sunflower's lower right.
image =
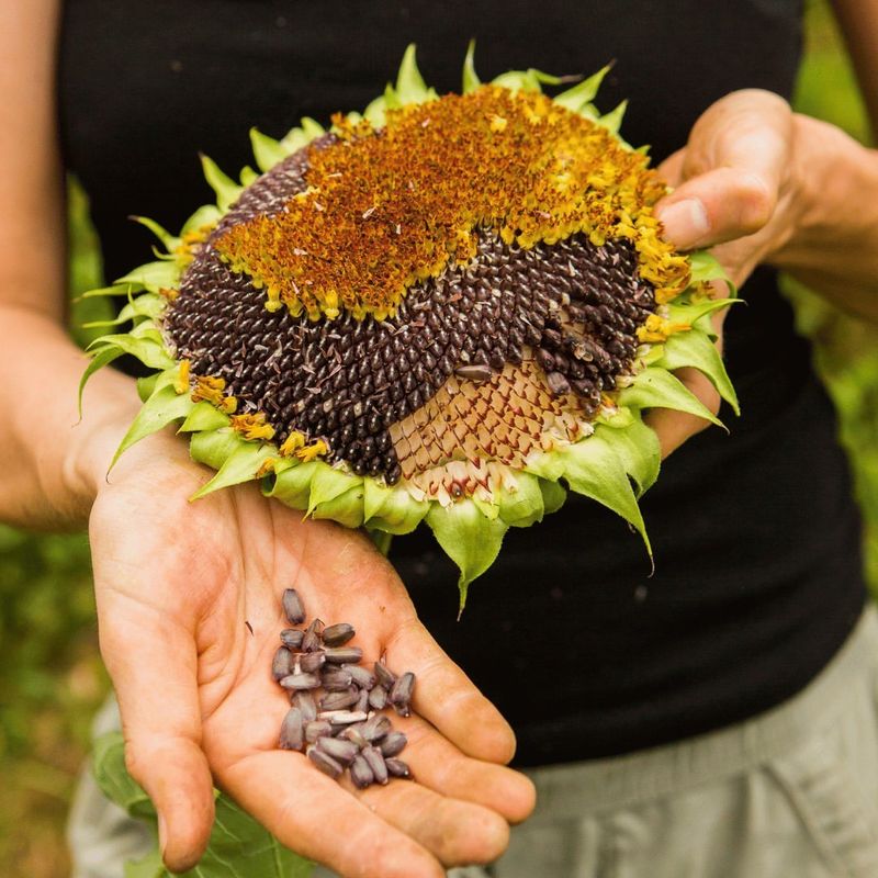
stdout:
<svg viewBox="0 0 878 878">
<path fill-rule="evenodd" d="M 621 457 L 614 449 L 614 443 L 605 437 L 606 434 L 595 432 L 587 439 L 555 452 L 564 462 L 564 479 L 571 491 L 597 500 L 632 525 L 643 538 L 652 558 L 650 538 L 646 536 L 634 489 L 628 480 Z"/>
</svg>

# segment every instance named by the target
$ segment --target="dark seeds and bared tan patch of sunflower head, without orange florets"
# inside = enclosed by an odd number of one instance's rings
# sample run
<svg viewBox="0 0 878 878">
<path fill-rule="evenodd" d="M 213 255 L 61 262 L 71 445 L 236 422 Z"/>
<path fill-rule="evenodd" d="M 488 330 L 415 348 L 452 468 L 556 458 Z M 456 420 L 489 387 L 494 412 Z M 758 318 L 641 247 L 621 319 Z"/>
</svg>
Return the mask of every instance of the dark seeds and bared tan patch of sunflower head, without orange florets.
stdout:
<svg viewBox="0 0 878 878">
<path fill-rule="evenodd" d="M 570 436 L 594 418 L 655 311 L 628 240 L 521 249 L 481 228 L 473 261 L 413 285 L 392 318 L 270 312 L 214 240 L 303 191 L 306 156 L 246 190 L 187 269 L 164 330 L 193 376 L 224 379 L 238 413 L 263 413 L 277 442 L 323 439 L 329 462 L 391 484 L 444 460 L 516 463 L 545 430 Z"/>
</svg>

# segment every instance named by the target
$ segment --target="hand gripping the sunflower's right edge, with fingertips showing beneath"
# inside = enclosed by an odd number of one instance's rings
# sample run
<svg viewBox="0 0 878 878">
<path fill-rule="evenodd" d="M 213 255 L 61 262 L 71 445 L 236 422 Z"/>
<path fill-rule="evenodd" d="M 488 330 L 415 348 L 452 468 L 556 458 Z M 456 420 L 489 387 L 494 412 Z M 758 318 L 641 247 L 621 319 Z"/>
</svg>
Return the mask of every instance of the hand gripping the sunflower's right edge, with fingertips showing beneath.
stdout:
<svg viewBox="0 0 878 878">
<path fill-rule="evenodd" d="M 708 108 L 687 145 L 658 167 L 674 189 L 656 205 L 664 236 L 680 250 L 712 248 L 732 282 L 743 284 L 798 226 L 795 131 L 789 104 L 768 91 L 736 91 Z M 728 295 L 724 284 L 714 284 L 714 294 Z M 727 313 L 713 316 L 720 350 Z M 701 372 L 675 374 L 712 414 L 719 412 L 720 396 Z M 709 426 L 669 409 L 652 409 L 645 419 L 658 434 L 663 457 Z"/>
</svg>

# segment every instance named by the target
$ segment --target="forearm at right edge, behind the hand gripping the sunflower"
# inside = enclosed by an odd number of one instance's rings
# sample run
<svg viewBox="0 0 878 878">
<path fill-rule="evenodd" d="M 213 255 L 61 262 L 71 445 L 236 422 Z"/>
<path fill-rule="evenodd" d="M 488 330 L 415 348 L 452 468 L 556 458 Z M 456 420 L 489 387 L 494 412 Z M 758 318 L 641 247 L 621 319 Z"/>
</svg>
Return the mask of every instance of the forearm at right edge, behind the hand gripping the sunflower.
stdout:
<svg viewBox="0 0 878 878">
<path fill-rule="evenodd" d="M 808 116 L 793 124 L 798 218 L 769 261 L 878 322 L 878 151 Z"/>
</svg>

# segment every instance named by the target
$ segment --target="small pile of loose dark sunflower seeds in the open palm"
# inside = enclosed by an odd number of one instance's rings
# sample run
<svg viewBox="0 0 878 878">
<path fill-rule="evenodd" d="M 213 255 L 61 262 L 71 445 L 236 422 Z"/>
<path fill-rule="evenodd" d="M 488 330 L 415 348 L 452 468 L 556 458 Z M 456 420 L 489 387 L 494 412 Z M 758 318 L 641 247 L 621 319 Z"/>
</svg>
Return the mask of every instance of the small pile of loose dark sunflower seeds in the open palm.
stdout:
<svg viewBox="0 0 878 878">
<path fill-rule="evenodd" d="M 294 588 L 283 593 L 283 611 L 291 626 L 305 622 Z M 365 789 L 391 777 L 412 777 L 396 758 L 407 739 L 380 711 L 392 707 L 401 717 L 412 714 L 415 675 L 396 676 L 382 662 L 374 671 L 361 667 L 362 650 L 346 645 L 354 633 L 347 622 L 325 626 L 319 619 L 307 628 L 286 628 L 271 673 L 292 705 L 281 724 L 281 748 L 304 750 L 333 778 L 347 768 L 353 784 Z"/>
</svg>

